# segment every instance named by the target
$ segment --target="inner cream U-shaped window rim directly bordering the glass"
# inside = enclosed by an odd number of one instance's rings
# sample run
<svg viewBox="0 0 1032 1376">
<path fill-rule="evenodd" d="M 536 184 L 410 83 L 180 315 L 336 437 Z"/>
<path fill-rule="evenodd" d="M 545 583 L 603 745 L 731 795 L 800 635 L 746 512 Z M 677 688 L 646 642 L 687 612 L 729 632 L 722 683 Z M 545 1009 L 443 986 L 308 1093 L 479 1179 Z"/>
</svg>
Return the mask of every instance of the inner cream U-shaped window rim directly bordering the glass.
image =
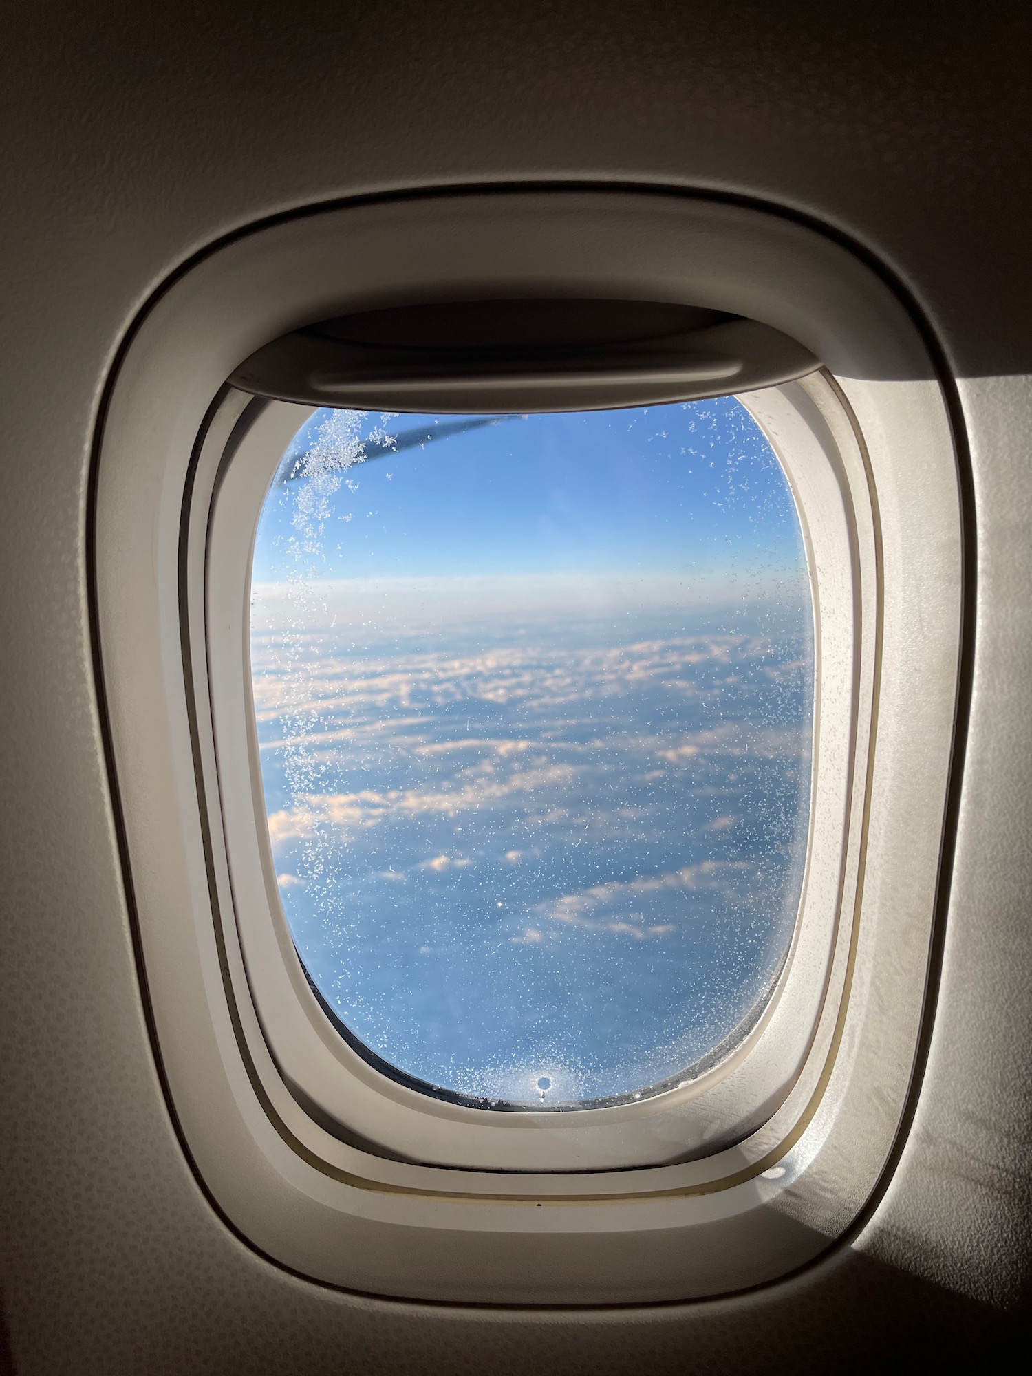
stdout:
<svg viewBox="0 0 1032 1376">
<path fill-rule="evenodd" d="M 246 985 L 234 985 L 234 995 L 238 1003 L 253 1003 L 277 1066 L 266 1077 L 266 1093 L 275 1095 L 286 1082 L 303 1112 L 288 1104 L 282 1112 L 312 1150 L 323 1146 L 310 1132 L 314 1121 L 347 1145 L 363 1143 L 374 1154 L 409 1164 L 523 1172 L 655 1167 L 733 1146 L 791 1093 L 817 1036 L 838 948 L 849 938 L 849 921 L 845 926 L 841 921 L 843 868 L 856 845 L 849 827 L 853 776 L 863 773 L 867 755 L 854 699 L 861 666 L 877 654 L 878 638 L 874 601 L 863 592 L 875 577 L 874 527 L 868 512 L 868 538 L 861 542 L 863 522 L 854 510 L 857 502 L 868 504 L 867 476 L 854 446 L 850 472 L 830 432 L 820 435 L 813 427 L 815 396 L 824 407 L 835 405 L 827 381 L 817 377 L 765 389 L 753 403 L 780 417 L 791 433 L 791 443 L 782 446 L 782 464 L 788 465 L 797 498 L 813 593 L 809 838 L 787 959 L 757 1022 L 717 1065 L 637 1102 L 560 1113 L 493 1110 L 420 1093 L 352 1049 L 312 992 L 282 911 L 268 842 L 246 612 L 261 505 L 289 439 L 314 407 L 252 403 L 235 427 L 228 461 L 217 442 L 202 446 L 194 493 L 200 495 L 198 484 L 204 494 L 211 488 L 211 509 L 200 513 L 195 527 L 204 531 L 205 548 L 187 548 L 186 561 L 191 577 L 205 579 L 204 615 L 215 627 L 205 636 L 206 674 L 197 677 L 194 698 L 212 716 L 220 761 L 220 786 L 219 780 L 205 786 L 208 813 L 220 820 L 217 845 L 228 857 L 223 941 L 239 947 Z M 224 405 L 235 410 L 237 395 Z M 212 466 L 213 483 L 205 476 Z M 863 612 L 854 615 L 857 607 Z M 827 651 L 823 618 L 848 627 Z M 828 768 L 828 761 L 846 761 L 846 769 Z M 252 1047 L 252 1055 L 260 1051 Z"/>
</svg>

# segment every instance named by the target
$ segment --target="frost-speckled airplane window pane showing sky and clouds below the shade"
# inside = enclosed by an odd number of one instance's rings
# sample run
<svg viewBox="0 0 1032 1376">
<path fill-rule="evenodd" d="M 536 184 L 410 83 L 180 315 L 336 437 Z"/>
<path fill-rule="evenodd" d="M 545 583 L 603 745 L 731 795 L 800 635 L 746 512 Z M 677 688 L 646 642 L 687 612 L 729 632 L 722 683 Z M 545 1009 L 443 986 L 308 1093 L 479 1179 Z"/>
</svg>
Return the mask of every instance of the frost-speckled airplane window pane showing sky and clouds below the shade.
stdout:
<svg viewBox="0 0 1032 1376">
<path fill-rule="evenodd" d="M 750 1031 L 799 903 L 813 626 L 738 400 L 316 411 L 261 510 L 250 651 L 283 912 L 374 1065 L 568 1109 Z"/>
</svg>

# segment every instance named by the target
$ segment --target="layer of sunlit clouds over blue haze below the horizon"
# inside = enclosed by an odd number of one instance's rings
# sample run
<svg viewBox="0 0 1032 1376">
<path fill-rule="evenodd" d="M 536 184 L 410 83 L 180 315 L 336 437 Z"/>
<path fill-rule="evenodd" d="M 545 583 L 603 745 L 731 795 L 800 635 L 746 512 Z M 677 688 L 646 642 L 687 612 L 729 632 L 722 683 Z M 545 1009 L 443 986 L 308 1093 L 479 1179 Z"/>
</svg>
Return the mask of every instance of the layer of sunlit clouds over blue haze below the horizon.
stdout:
<svg viewBox="0 0 1032 1376">
<path fill-rule="evenodd" d="M 733 618 L 732 618 L 733 622 Z M 641 616 L 351 648 L 259 630 L 283 905 L 377 1054 L 457 1093 L 632 1093 L 720 1043 L 791 932 L 805 637 Z"/>
</svg>

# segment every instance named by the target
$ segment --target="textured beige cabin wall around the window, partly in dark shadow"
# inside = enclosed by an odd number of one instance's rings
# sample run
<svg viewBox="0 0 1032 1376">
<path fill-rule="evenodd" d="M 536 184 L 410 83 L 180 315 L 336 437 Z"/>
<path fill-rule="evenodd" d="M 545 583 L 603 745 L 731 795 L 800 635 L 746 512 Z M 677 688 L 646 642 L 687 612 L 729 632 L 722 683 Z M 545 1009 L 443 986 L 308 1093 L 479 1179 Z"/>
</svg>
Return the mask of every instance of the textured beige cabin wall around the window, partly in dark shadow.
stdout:
<svg viewBox="0 0 1032 1376">
<path fill-rule="evenodd" d="M 0 1248 L 18 1370 L 520 1372 L 542 1354 L 556 1372 L 848 1370 L 988 1340 L 1032 1256 L 1028 8 L 14 0 L 4 29 Z M 84 557 L 120 341 L 162 279 L 261 217 L 512 180 L 813 216 L 899 275 L 971 380 L 971 771 L 915 1131 L 863 1251 L 738 1299 L 491 1314 L 286 1276 L 206 1204 L 147 1040 Z"/>
</svg>

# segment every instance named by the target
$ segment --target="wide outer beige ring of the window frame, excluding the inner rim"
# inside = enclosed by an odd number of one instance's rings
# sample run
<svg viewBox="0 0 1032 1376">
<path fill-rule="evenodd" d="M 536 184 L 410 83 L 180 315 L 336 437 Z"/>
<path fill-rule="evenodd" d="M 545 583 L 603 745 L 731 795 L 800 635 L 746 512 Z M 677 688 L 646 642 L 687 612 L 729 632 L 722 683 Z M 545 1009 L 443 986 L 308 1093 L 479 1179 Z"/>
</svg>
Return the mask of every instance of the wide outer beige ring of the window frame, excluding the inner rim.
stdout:
<svg viewBox="0 0 1032 1376">
<path fill-rule="evenodd" d="M 195 694 L 204 577 L 186 550 L 205 548 L 204 451 L 246 442 L 249 403 L 223 380 L 266 340 L 343 304 L 486 293 L 499 281 L 640 300 L 673 292 L 799 338 L 828 365 L 806 429 L 859 461 L 871 513 L 860 519 L 875 546 L 881 534 L 881 570 L 854 607 L 881 625 L 853 698 L 877 710 L 877 750 L 854 779 L 841 874 L 854 910 L 827 1017 L 773 1115 L 684 1164 L 505 1174 L 343 1142 L 289 1093 L 264 1010 L 237 998 L 244 955 L 219 940 L 233 885 L 209 794 L 216 736 Z M 797 443 L 775 399 L 786 391 L 749 399 L 779 454 Z M 941 391 L 870 268 L 810 228 L 684 194 L 388 198 L 264 226 L 202 257 L 140 322 L 105 418 L 95 510 L 98 648 L 155 1053 L 198 1176 L 244 1237 L 332 1285 L 548 1304 L 761 1284 L 849 1227 L 890 1157 L 925 1013 L 962 572 Z M 307 1117 L 304 1137 L 285 1113 Z"/>
</svg>

